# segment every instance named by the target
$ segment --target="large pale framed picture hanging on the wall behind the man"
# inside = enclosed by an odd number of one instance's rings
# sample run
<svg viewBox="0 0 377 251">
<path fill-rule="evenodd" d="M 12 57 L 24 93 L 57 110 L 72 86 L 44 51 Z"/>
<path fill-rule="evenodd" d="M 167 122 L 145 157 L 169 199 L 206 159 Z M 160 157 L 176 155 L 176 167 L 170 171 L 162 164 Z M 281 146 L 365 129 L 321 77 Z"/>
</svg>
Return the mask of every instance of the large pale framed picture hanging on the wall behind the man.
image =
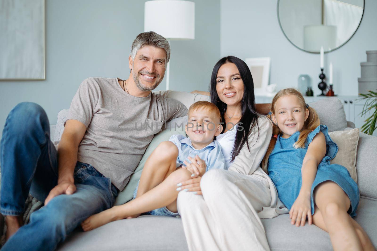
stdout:
<svg viewBox="0 0 377 251">
<path fill-rule="evenodd" d="M 44 0 L 0 1 L 0 80 L 44 80 Z"/>
</svg>

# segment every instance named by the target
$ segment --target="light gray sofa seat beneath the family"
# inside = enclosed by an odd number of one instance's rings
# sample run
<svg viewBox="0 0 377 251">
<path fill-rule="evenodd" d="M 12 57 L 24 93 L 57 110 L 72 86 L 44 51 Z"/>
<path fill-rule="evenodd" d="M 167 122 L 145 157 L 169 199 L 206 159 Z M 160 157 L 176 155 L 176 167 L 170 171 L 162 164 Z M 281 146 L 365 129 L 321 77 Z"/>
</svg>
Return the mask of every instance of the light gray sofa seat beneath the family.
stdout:
<svg viewBox="0 0 377 251">
<path fill-rule="evenodd" d="M 377 201 L 361 198 L 354 218 L 377 246 Z M 289 214 L 261 219 L 272 251 L 333 250 L 328 233 L 314 225 L 296 227 Z M 94 230 L 77 229 L 58 251 L 91 250 L 188 250 L 182 221 L 166 216 L 140 216 L 114 221 Z"/>
</svg>

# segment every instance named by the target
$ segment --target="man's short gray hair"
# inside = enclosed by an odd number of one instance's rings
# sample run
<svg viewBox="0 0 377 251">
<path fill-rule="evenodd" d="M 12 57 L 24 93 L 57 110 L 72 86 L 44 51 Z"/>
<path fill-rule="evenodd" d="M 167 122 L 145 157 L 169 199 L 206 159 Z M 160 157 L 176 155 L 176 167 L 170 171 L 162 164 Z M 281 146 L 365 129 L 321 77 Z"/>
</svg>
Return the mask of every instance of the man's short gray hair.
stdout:
<svg viewBox="0 0 377 251">
<path fill-rule="evenodd" d="M 145 46 L 150 45 L 157 48 L 162 48 L 166 52 L 166 64 L 169 62 L 170 59 L 170 45 L 166 38 L 162 37 L 161 35 L 157 34 L 154 31 L 148 31 L 140 33 L 135 40 L 133 40 L 131 46 L 130 56 L 132 61 L 135 60 L 136 53 L 138 50 Z"/>
</svg>

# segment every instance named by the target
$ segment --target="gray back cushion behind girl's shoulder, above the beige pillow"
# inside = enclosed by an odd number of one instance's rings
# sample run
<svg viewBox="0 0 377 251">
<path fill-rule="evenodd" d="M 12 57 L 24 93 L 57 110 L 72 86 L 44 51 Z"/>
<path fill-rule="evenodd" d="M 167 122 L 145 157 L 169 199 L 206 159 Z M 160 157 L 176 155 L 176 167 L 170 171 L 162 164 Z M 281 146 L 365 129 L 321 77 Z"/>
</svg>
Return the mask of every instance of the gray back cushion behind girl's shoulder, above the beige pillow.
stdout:
<svg viewBox="0 0 377 251">
<path fill-rule="evenodd" d="M 338 98 L 326 97 L 309 105 L 317 111 L 320 123 L 326 125 L 329 132 L 343 131 L 347 127 L 346 113 Z"/>
</svg>

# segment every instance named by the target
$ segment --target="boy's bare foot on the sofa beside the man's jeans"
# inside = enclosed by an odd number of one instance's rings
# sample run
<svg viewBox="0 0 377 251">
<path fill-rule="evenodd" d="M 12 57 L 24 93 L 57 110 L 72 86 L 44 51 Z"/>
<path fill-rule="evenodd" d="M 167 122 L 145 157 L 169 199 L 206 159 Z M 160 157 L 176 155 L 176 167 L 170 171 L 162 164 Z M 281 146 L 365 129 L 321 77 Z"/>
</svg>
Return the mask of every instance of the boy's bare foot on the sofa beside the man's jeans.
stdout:
<svg viewBox="0 0 377 251">
<path fill-rule="evenodd" d="M 101 213 L 93 214 L 85 221 L 81 222 L 81 227 L 84 231 L 89 231 L 118 219 L 116 207 L 112 207 Z"/>
</svg>

